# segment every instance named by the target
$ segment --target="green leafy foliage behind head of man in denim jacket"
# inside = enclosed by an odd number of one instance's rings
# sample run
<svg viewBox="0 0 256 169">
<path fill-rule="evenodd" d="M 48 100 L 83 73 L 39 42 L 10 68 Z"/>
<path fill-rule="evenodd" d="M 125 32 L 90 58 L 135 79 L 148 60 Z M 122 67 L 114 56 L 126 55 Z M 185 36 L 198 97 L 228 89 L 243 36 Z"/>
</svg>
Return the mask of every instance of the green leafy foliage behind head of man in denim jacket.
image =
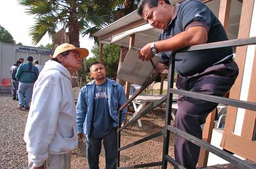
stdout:
<svg viewBox="0 0 256 169">
<path fill-rule="evenodd" d="M 90 64 L 93 62 L 98 61 L 99 57 L 99 46 L 94 45 L 93 49 L 91 51 L 93 53 L 93 57 L 88 58 L 86 62 L 86 71 L 84 69 L 80 70 L 81 76 L 87 77 L 87 81 L 91 81 L 90 78 Z M 119 62 L 119 55 L 120 55 L 120 46 L 115 44 L 106 44 L 103 46 L 103 58 L 102 63 L 105 66 L 106 69 L 106 77 L 110 79 L 116 79 L 117 76 L 117 68 L 118 68 L 118 62 Z M 85 80 L 85 79 L 84 79 Z"/>
</svg>

